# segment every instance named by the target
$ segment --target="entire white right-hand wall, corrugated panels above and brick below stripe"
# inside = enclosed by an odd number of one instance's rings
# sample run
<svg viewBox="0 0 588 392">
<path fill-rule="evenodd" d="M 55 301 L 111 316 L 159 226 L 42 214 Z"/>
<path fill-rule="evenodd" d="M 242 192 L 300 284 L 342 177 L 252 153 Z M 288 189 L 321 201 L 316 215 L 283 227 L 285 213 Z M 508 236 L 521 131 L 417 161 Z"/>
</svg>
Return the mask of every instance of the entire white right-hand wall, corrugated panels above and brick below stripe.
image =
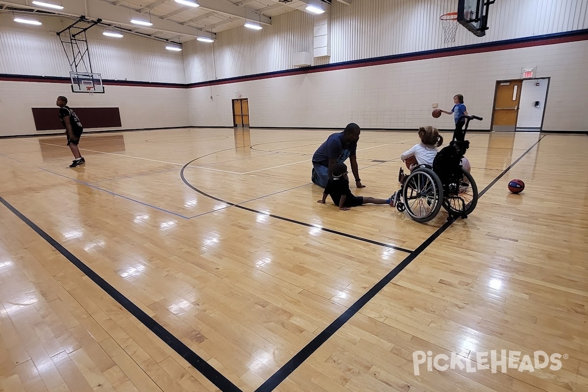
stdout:
<svg viewBox="0 0 588 392">
<path fill-rule="evenodd" d="M 439 15 L 456 8 L 456 0 L 335 1 L 332 56 L 315 58 L 313 65 L 588 28 L 588 0 L 501 0 L 492 5 L 485 37 L 460 26 L 456 42 L 446 44 Z M 186 82 L 292 69 L 293 53 L 312 52 L 312 18 L 290 12 L 262 31 L 235 28 L 218 33 L 212 45 L 186 45 Z M 230 100 L 241 92 L 249 98 L 253 126 L 340 127 L 355 121 L 363 128 L 415 128 L 431 123 L 432 103 L 450 109 L 453 95 L 463 93 L 469 112 L 485 117 L 472 129 L 489 129 L 495 82 L 537 66 L 538 76 L 552 77 L 544 129 L 586 130 L 576 110 L 588 107 L 582 71 L 587 61 L 584 41 L 206 86 L 189 92 L 191 124 L 231 126 Z M 452 119 L 443 116 L 435 125 L 452 128 Z"/>
</svg>

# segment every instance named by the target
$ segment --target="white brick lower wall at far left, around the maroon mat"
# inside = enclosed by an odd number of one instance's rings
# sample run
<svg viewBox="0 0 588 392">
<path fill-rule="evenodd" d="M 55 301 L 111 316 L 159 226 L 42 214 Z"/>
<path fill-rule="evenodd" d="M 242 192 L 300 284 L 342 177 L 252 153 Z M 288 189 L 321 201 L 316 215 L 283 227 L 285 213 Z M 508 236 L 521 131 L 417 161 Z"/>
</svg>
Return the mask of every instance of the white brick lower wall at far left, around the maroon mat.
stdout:
<svg viewBox="0 0 588 392">
<path fill-rule="evenodd" d="M 52 108 L 59 95 L 65 95 L 72 108 L 118 107 L 122 129 L 189 125 L 186 89 L 105 86 L 105 91 L 90 96 L 72 93 L 71 85 L 65 83 L 0 81 L 0 136 L 55 132 L 36 131 L 31 108 Z"/>
</svg>

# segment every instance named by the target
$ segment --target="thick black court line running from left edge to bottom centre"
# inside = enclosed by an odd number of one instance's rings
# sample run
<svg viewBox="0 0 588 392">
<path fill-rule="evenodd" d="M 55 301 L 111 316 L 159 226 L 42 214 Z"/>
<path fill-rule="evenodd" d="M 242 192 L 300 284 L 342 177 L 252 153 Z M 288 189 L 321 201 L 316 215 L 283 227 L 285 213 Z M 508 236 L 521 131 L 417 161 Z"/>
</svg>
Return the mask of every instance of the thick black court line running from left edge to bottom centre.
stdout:
<svg viewBox="0 0 588 392">
<path fill-rule="evenodd" d="M 219 373 L 215 368 L 203 360 L 198 354 L 189 349 L 188 346 L 182 343 L 181 340 L 173 336 L 168 330 L 166 330 L 161 324 L 149 317 L 144 311 L 139 309 L 138 306 L 133 304 L 127 297 L 123 296 L 121 292 L 111 286 L 106 280 L 102 279 L 97 273 L 86 266 L 78 257 L 65 249 L 60 243 L 58 243 L 53 237 L 45 233 L 39 226 L 35 225 L 28 217 L 22 215 L 19 210 L 8 203 L 4 197 L 0 196 L 0 203 L 6 208 L 11 210 L 14 215 L 19 217 L 22 222 L 26 223 L 31 229 L 35 230 L 39 236 L 54 247 L 59 253 L 61 253 L 66 259 L 74 264 L 78 269 L 83 272 L 86 276 L 92 279 L 92 282 L 96 283 L 98 287 L 112 297 L 116 302 L 121 304 L 129 313 L 136 317 L 141 323 L 151 330 L 159 339 L 163 340 L 173 351 L 176 351 L 183 359 L 188 361 L 196 370 L 198 370 L 204 377 L 206 377 L 211 383 L 215 384 L 223 392 L 242 392 L 235 384 L 229 381 L 228 378 Z"/>
</svg>

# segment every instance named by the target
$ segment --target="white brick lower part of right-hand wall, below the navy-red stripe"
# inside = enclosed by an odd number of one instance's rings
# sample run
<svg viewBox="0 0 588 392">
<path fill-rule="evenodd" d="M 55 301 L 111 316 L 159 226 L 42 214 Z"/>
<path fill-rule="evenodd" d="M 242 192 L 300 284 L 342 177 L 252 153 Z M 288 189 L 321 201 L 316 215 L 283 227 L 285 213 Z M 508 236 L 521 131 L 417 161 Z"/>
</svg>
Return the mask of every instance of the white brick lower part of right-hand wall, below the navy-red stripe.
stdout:
<svg viewBox="0 0 588 392">
<path fill-rule="evenodd" d="M 552 78 L 544 129 L 586 130 L 579 113 L 588 107 L 587 53 L 588 41 L 578 41 L 202 86 L 189 89 L 191 124 L 232 126 L 231 99 L 240 92 L 252 127 L 450 129 L 452 116 L 431 118 L 432 103 L 449 110 L 463 93 L 468 112 L 484 118 L 470 129 L 489 129 L 496 81 L 532 65 Z"/>
</svg>

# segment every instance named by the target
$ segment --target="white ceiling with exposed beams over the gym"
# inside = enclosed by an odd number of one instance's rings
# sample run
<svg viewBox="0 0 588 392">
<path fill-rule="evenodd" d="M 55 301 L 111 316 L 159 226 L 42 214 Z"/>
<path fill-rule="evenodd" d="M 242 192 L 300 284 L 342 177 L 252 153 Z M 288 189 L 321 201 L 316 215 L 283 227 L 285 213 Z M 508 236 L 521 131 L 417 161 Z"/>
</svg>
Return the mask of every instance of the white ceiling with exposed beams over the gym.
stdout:
<svg viewBox="0 0 588 392">
<path fill-rule="evenodd" d="M 46 0 L 64 6 L 55 11 L 33 5 L 31 0 L 0 0 L 0 12 L 14 14 L 62 15 L 76 20 L 81 15 L 103 24 L 171 42 L 186 42 L 211 36 L 245 21 L 270 25 L 271 18 L 308 4 L 326 5 L 330 0 L 199 0 L 200 6 L 182 5 L 175 0 Z M 193 0 L 192 0 L 193 1 Z M 337 0 L 350 4 L 352 0 Z M 130 23 L 131 18 L 151 20 L 146 28 Z"/>
</svg>

